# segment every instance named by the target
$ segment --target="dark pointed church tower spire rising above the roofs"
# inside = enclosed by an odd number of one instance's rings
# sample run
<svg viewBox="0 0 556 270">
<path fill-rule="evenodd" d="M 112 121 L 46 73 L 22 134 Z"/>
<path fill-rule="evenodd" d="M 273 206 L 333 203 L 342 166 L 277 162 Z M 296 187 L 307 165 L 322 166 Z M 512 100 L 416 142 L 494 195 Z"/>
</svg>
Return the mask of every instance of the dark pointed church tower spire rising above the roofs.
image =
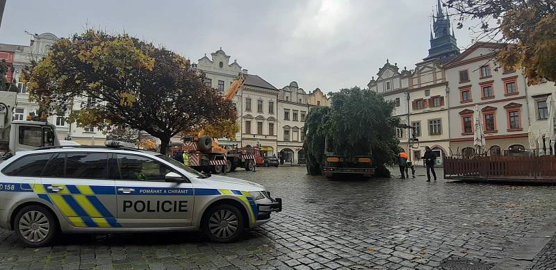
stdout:
<svg viewBox="0 0 556 270">
<path fill-rule="evenodd" d="M 453 29 L 450 29 L 450 15 L 446 11 L 446 15 L 442 12 L 440 0 L 437 3 L 436 16 L 433 16 L 432 31 L 430 33 L 430 49 L 429 56 L 423 60 L 436 59 L 439 62 L 448 62 L 459 55 L 457 41 Z M 451 30 L 451 34 L 450 34 Z"/>
</svg>

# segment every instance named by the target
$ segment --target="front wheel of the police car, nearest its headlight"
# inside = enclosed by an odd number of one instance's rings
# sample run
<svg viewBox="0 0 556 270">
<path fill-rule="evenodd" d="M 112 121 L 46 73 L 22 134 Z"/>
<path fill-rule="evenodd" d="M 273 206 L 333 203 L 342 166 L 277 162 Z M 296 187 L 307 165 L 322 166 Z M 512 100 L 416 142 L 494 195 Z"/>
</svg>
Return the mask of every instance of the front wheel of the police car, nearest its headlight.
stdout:
<svg viewBox="0 0 556 270">
<path fill-rule="evenodd" d="M 205 217 L 202 230 L 213 242 L 233 242 L 243 233 L 243 214 L 234 205 L 216 205 Z"/>
</svg>

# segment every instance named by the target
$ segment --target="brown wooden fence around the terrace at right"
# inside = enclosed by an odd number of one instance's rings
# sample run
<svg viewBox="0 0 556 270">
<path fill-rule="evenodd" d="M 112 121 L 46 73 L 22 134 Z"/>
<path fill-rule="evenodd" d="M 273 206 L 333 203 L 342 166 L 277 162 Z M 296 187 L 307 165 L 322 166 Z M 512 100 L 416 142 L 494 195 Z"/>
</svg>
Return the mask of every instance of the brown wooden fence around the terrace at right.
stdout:
<svg viewBox="0 0 556 270">
<path fill-rule="evenodd" d="M 556 180 L 556 155 L 447 157 L 444 178 Z"/>
</svg>

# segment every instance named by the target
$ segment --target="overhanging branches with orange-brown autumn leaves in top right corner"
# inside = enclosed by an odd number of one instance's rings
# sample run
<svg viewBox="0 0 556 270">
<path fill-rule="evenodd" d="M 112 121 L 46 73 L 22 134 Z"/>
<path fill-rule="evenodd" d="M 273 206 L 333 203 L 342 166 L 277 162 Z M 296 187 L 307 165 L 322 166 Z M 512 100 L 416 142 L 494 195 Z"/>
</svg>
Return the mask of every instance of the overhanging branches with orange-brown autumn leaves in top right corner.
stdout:
<svg viewBox="0 0 556 270">
<path fill-rule="evenodd" d="M 529 84 L 556 81 L 556 0 L 445 0 L 459 15 L 458 27 L 479 22 L 477 40 L 505 45 L 496 60 L 506 69 L 523 68 Z"/>
</svg>

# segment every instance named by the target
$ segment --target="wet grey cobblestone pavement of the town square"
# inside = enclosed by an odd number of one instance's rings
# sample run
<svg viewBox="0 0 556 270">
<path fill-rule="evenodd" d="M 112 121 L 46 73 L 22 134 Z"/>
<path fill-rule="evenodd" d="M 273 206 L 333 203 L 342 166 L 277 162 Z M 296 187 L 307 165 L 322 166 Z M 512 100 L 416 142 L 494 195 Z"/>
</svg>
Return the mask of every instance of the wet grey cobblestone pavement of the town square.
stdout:
<svg viewBox="0 0 556 270">
<path fill-rule="evenodd" d="M 423 173 L 326 180 L 304 167 L 237 171 L 229 176 L 265 185 L 284 211 L 236 243 L 136 233 L 24 248 L 0 230 L 0 269 L 440 269 L 446 258 L 525 269 L 555 234 L 556 187 L 425 183 Z"/>
</svg>

